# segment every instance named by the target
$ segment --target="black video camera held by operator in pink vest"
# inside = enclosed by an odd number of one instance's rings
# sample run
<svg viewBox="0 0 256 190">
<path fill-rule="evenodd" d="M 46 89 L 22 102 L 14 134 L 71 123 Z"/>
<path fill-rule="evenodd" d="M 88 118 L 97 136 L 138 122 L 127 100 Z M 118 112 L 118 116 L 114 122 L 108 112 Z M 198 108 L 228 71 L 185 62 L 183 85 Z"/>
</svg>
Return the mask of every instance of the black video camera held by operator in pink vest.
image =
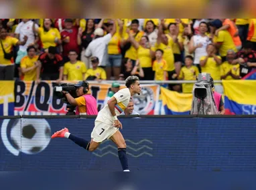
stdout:
<svg viewBox="0 0 256 190">
<path fill-rule="evenodd" d="M 76 109 L 76 106 L 70 105 L 68 99 L 66 99 L 66 95 L 64 95 L 62 91 L 67 91 L 72 97 L 76 98 L 76 88 L 77 87 L 74 84 L 70 83 L 61 83 L 58 86 L 54 87 L 54 96 L 56 96 L 57 99 L 61 99 L 62 102 L 66 103 L 66 109 L 68 110 L 68 113 L 66 113 L 66 115 L 76 115 L 74 111 L 74 109 Z"/>
</svg>

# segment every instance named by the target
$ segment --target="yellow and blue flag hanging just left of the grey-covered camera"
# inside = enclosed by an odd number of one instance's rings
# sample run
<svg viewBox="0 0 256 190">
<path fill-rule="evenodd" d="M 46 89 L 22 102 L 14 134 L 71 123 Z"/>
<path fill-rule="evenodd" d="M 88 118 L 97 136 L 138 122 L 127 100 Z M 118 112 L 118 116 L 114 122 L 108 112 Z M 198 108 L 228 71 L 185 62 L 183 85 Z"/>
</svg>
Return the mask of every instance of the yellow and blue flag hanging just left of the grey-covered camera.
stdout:
<svg viewBox="0 0 256 190">
<path fill-rule="evenodd" d="M 161 87 L 161 98 L 166 115 L 189 115 L 192 105 L 192 93 L 183 94 Z"/>
</svg>

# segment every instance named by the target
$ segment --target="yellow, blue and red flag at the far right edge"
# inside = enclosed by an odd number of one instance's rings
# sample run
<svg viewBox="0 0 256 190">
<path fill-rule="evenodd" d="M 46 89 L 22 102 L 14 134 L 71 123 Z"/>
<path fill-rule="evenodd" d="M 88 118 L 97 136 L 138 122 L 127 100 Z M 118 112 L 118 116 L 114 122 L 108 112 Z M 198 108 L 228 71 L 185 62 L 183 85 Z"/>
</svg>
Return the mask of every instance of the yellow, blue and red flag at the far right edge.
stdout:
<svg viewBox="0 0 256 190">
<path fill-rule="evenodd" d="M 222 81 L 227 115 L 256 113 L 256 81 Z"/>
</svg>

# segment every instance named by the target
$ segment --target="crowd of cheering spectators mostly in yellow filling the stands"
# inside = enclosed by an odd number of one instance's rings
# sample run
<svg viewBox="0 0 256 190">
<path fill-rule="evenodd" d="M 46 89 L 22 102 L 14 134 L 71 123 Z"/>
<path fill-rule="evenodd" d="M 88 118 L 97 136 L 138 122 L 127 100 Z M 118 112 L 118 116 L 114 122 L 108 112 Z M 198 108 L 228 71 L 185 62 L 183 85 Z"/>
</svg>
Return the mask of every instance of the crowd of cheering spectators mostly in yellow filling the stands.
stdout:
<svg viewBox="0 0 256 190">
<path fill-rule="evenodd" d="M 0 30 L 0 80 L 229 80 L 256 67 L 256 19 L 0 19 Z"/>
</svg>

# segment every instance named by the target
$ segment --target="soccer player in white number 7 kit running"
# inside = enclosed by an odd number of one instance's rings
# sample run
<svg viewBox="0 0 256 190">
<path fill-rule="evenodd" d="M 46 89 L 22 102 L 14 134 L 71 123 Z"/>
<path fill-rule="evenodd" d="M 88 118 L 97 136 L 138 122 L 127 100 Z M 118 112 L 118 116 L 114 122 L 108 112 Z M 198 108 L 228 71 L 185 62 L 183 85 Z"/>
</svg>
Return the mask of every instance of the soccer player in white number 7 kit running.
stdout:
<svg viewBox="0 0 256 190">
<path fill-rule="evenodd" d="M 136 76 L 127 77 L 125 86 L 127 88 L 121 89 L 115 93 L 113 97 L 109 99 L 105 107 L 99 111 L 98 116 L 95 119 L 94 129 L 90 135 L 91 141 L 86 141 L 85 139 L 70 134 L 67 128 L 54 133 L 52 139 L 57 137 L 70 139 L 87 151 L 94 151 L 105 139 L 111 139 L 111 141 L 117 145 L 118 156 L 123 171 L 129 171 L 125 139 L 119 131 L 119 128 L 123 129 L 123 127 L 121 122 L 117 119 L 117 115 L 120 115 L 125 110 L 129 104 L 131 96 L 141 92 L 139 78 Z"/>
</svg>

